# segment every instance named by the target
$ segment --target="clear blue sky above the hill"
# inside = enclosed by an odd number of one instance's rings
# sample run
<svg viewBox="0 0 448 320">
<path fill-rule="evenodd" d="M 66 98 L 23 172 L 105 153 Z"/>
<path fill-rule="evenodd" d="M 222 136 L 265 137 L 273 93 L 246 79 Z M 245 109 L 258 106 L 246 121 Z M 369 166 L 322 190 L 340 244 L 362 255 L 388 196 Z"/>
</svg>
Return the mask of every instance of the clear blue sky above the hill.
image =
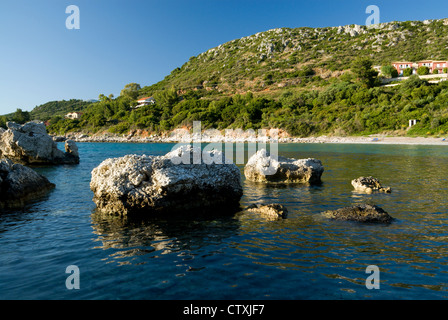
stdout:
<svg viewBox="0 0 448 320">
<path fill-rule="evenodd" d="M 80 10 L 68 30 L 67 6 Z M 442 19 L 448 1 L 414 0 L 1 0 L 0 114 L 52 100 L 118 96 L 227 41 L 279 27 Z"/>
</svg>

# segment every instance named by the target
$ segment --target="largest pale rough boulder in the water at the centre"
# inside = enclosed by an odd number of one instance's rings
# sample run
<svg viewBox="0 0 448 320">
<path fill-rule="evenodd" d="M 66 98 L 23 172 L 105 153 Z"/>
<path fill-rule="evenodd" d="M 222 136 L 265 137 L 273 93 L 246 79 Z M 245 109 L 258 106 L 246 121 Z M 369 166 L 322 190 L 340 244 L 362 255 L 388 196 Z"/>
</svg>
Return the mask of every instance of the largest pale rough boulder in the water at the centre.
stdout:
<svg viewBox="0 0 448 320">
<path fill-rule="evenodd" d="M 199 151 L 198 151 L 199 150 Z M 216 150 L 182 146 L 165 156 L 107 159 L 92 171 L 93 201 L 103 213 L 236 210 L 243 195 L 240 170 Z M 204 162 L 204 155 L 215 163 Z M 179 163 L 179 159 L 184 159 Z M 219 160 L 219 161 L 217 161 Z M 221 164 L 217 163 L 221 162 Z M 198 164 L 193 164 L 198 163 Z"/>
</svg>

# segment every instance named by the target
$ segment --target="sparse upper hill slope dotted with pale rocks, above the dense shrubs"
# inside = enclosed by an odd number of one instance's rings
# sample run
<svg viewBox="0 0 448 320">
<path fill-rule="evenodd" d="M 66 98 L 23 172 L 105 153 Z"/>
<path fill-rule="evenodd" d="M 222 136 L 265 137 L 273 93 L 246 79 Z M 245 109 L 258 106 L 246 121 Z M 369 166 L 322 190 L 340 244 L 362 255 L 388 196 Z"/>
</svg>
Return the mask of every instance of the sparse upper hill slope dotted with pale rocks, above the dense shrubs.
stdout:
<svg viewBox="0 0 448 320">
<path fill-rule="evenodd" d="M 343 74 L 354 57 L 368 57 L 379 66 L 395 60 L 447 60 L 447 43 L 448 19 L 390 22 L 377 28 L 279 28 L 191 57 L 144 91 L 174 86 L 236 94 L 304 87 L 310 82 L 319 86 Z"/>
</svg>

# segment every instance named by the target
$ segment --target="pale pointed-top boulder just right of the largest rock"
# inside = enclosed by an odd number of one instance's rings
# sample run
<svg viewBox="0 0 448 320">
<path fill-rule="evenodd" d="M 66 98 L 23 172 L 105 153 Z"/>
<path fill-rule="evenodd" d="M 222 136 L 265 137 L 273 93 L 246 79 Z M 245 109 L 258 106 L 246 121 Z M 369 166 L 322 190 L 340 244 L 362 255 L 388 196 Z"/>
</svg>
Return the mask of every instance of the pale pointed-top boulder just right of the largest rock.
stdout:
<svg viewBox="0 0 448 320">
<path fill-rule="evenodd" d="M 254 182 L 319 183 L 323 172 L 320 160 L 274 159 L 265 149 L 255 153 L 244 168 L 246 178 Z"/>
</svg>

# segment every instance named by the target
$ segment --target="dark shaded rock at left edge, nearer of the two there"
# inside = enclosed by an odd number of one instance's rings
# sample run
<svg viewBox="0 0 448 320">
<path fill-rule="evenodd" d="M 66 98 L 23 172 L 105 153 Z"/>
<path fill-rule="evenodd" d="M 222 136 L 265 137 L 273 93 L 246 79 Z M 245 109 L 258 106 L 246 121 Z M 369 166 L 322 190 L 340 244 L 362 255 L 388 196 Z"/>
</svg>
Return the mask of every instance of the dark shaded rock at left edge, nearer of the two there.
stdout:
<svg viewBox="0 0 448 320">
<path fill-rule="evenodd" d="M 0 209 L 23 207 L 54 187 L 33 169 L 8 159 L 0 160 Z"/>
</svg>

